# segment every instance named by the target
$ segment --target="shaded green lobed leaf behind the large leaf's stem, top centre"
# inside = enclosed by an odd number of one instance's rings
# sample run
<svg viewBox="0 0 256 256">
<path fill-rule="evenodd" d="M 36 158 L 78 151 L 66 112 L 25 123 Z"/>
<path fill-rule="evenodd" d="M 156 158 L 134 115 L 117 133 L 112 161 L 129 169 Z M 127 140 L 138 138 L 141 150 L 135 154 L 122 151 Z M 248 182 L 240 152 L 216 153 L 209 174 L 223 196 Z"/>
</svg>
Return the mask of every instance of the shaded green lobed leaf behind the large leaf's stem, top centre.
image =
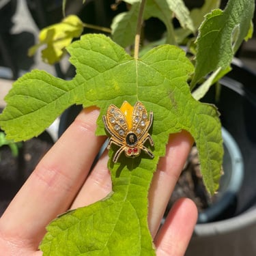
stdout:
<svg viewBox="0 0 256 256">
<path fill-rule="evenodd" d="M 126 0 L 126 2 L 132 4 L 130 11 L 118 14 L 111 25 L 113 40 L 123 47 L 130 46 L 133 42 L 140 5 L 140 1 Z M 167 42 L 175 44 L 171 23 L 173 14 L 180 21 L 182 27 L 195 31 L 193 20 L 190 18 L 189 11 L 182 0 L 147 0 L 143 18 L 147 20 L 150 17 L 155 17 L 162 20 L 167 27 Z"/>
</svg>

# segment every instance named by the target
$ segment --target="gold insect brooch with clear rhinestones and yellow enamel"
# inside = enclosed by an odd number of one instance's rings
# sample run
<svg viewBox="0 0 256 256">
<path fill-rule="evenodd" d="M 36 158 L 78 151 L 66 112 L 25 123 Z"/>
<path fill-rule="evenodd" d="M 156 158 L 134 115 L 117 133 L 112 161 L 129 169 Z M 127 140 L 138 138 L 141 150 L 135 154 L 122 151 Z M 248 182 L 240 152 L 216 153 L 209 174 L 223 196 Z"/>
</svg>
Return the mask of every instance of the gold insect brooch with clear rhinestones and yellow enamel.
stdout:
<svg viewBox="0 0 256 256">
<path fill-rule="evenodd" d="M 153 112 L 150 111 L 148 119 L 147 110 L 141 102 L 138 101 L 131 106 L 124 101 L 120 109 L 111 104 L 102 119 L 107 132 L 111 134 L 106 148 L 109 150 L 112 143 L 119 146 L 119 150 L 113 157 L 113 162 L 117 162 L 122 152 L 127 157 L 134 158 L 141 154 L 141 150 L 154 158 L 154 154 L 144 146 L 147 140 L 150 141 L 150 145 L 154 145 L 154 141 L 148 133 L 153 122 Z"/>
</svg>

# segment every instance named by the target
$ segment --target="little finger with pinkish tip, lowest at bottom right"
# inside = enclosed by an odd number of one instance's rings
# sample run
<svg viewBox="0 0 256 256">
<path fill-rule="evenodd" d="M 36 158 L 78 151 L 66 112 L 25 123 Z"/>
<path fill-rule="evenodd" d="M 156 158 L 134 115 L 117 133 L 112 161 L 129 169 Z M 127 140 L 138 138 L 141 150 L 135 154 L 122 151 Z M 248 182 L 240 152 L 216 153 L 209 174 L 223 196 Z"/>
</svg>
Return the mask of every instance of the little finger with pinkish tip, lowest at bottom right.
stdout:
<svg viewBox="0 0 256 256">
<path fill-rule="evenodd" d="M 195 203 L 190 199 L 177 201 L 156 236 L 156 255 L 183 256 L 196 223 L 197 207 Z"/>
</svg>

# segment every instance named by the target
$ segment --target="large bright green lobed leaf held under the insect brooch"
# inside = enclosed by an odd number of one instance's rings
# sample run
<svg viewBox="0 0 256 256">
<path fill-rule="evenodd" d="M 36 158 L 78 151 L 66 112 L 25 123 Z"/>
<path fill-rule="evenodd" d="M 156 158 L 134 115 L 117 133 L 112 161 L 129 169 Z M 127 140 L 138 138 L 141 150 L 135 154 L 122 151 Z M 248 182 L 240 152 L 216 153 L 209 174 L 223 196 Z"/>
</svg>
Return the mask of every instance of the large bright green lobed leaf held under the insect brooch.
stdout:
<svg viewBox="0 0 256 256">
<path fill-rule="evenodd" d="M 40 248 L 51 256 L 155 255 L 147 227 L 147 193 L 158 160 L 165 155 L 169 134 L 181 130 L 192 134 L 205 185 L 214 193 L 223 157 L 218 112 L 191 96 L 186 81 L 193 65 L 176 46 L 158 46 L 141 59 L 133 59 L 104 35 L 84 35 L 68 51 L 76 67 L 71 81 L 36 71 L 14 84 L 6 97 L 8 106 L 0 116 L 0 125 L 8 136 L 20 139 L 27 128 L 31 137 L 38 134 L 74 103 L 99 106 L 97 134 L 105 134 L 102 115 L 110 104 L 120 107 L 124 100 L 130 104 L 140 100 L 147 111 L 154 112 L 154 158 L 144 153 L 137 158 L 122 154 L 114 164 L 115 149 L 111 149 L 108 166 L 113 193 L 53 221 Z"/>
</svg>

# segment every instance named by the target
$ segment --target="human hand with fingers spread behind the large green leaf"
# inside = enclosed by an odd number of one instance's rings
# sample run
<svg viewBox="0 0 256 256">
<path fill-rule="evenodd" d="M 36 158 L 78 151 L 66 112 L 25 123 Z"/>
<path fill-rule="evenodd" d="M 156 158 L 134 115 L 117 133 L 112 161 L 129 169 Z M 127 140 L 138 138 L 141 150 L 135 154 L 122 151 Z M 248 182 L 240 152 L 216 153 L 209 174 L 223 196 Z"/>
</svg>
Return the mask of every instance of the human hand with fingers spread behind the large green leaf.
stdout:
<svg viewBox="0 0 256 256">
<path fill-rule="evenodd" d="M 39 256 L 46 225 L 58 214 L 89 205 L 111 192 L 106 152 L 89 173 L 106 137 L 96 137 L 95 108 L 83 110 L 40 161 L 0 218 L 0 255 Z M 158 231 L 167 202 L 193 143 L 186 132 L 172 134 L 149 194 L 149 227 L 158 256 L 182 256 L 197 221 L 189 199 L 177 201 Z M 88 174 L 89 173 L 89 174 Z"/>
</svg>

